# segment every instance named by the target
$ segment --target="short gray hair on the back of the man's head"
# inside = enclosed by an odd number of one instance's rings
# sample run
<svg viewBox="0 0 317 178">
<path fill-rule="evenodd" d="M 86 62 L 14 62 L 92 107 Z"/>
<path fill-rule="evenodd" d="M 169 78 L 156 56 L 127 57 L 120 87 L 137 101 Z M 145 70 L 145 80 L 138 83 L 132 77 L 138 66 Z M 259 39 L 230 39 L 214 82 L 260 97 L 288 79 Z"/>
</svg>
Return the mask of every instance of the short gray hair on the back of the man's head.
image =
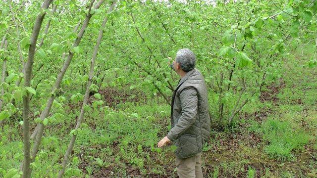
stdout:
<svg viewBox="0 0 317 178">
<path fill-rule="evenodd" d="M 190 49 L 179 49 L 176 54 L 176 62 L 184 72 L 189 72 L 195 68 L 196 56 Z"/>
</svg>

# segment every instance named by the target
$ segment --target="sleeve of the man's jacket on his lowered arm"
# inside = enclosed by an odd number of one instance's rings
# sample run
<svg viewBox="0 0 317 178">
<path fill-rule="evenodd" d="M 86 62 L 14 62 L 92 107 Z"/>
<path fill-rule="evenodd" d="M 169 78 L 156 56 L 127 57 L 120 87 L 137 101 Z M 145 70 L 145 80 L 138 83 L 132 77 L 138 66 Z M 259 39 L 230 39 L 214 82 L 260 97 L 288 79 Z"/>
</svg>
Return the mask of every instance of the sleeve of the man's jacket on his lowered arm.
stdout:
<svg viewBox="0 0 317 178">
<path fill-rule="evenodd" d="M 180 93 L 181 116 L 175 126 L 167 134 L 171 141 L 178 139 L 194 123 L 197 115 L 198 96 L 194 88 L 184 89 Z"/>
</svg>

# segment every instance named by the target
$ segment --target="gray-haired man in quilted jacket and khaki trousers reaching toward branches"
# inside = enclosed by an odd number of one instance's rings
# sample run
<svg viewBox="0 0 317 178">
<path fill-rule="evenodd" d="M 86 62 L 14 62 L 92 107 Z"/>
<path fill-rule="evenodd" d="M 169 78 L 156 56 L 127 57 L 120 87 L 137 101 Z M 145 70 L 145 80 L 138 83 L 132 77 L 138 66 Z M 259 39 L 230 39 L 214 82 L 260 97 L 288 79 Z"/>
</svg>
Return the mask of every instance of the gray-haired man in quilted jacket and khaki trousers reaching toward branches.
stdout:
<svg viewBox="0 0 317 178">
<path fill-rule="evenodd" d="M 158 143 L 158 147 L 171 141 L 176 145 L 180 178 L 203 178 L 201 153 L 210 136 L 207 88 L 195 64 L 196 57 L 190 49 L 180 49 L 170 64 L 181 79 L 172 97 L 171 130 Z"/>
</svg>

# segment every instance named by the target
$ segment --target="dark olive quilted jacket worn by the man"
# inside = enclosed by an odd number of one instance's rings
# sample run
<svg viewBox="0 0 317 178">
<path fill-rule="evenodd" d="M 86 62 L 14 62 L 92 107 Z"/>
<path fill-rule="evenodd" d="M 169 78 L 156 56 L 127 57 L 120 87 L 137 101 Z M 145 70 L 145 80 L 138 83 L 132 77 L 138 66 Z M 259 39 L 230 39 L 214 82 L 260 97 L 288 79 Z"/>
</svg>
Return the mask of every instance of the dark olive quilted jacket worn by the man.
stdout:
<svg viewBox="0 0 317 178">
<path fill-rule="evenodd" d="M 178 158 L 202 151 L 210 136 L 210 115 L 206 84 L 197 69 L 189 71 L 173 93 L 171 125 L 167 137 L 174 140 Z"/>
</svg>

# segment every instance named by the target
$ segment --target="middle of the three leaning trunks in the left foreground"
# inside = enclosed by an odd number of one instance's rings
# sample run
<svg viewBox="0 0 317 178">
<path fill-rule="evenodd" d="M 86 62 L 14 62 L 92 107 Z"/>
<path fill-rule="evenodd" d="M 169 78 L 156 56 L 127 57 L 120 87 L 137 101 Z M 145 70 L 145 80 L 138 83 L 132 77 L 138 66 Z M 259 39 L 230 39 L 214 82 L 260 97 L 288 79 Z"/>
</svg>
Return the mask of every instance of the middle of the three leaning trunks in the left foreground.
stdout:
<svg viewBox="0 0 317 178">
<path fill-rule="evenodd" d="M 89 7 L 88 13 L 87 13 L 86 18 L 85 18 L 85 20 L 83 22 L 83 26 L 81 27 L 79 33 L 77 34 L 77 38 L 76 38 L 74 44 L 72 45 L 72 47 L 76 47 L 76 46 L 79 45 L 79 43 L 80 43 L 80 41 L 81 41 L 81 39 L 82 39 L 82 37 L 83 37 L 83 35 L 85 33 L 85 29 L 88 26 L 88 23 L 89 23 L 92 15 L 93 15 L 93 14 L 90 14 L 90 11 L 91 11 L 91 8 L 92 8 L 94 2 L 95 2 L 95 0 L 92 1 L 91 5 Z M 98 9 L 103 2 L 104 2 L 104 0 L 98 1 L 97 4 L 94 6 L 94 8 Z M 66 71 L 67 71 L 67 69 L 69 67 L 69 65 L 70 65 L 70 62 L 71 62 L 73 56 L 74 56 L 74 53 L 72 51 L 69 51 L 68 52 L 68 57 L 67 57 L 64 65 L 63 65 L 61 71 L 59 72 L 59 74 L 57 76 L 57 79 L 55 81 L 54 87 L 52 89 L 52 93 L 55 93 L 60 88 L 60 83 L 61 83 L 61 81 L 62 81 L 62 79 L 63 79 L 63 77 L 64 77 L 64 75 L 65 75 L 65 73 L 66 73 Z M 47 101 L 45 109 L 41 113 L 40 118 L 41 118 L 42 121 L 49 116 L 49 113 L 51 111 L 54 99 L 55 99 L 55 94 L 52 94 L 51 97 Z M 35 138 L 35 141 L 34 141 L 34 145 L 32 147 L 32 153 L 31 153 L 31 158 L 32 159 L 31 159 L 31 162 L 33 162 L 35 160 L 35 157 L 36 157 L 36 155 L 38 153 L 39 146 L 41 144 L 41 139 L 42 139 L 42 136 L 43 136 L 43 131 L 44 131 L 44 125 L 43 125 L 43 123 L 39 123 L 37 125 L 37 127 L 36 127 L 36 130 L 34 131 L 34 132 L 37 132 L 37 134 L 36 134 L 36 138 Z"/>
</svg>

